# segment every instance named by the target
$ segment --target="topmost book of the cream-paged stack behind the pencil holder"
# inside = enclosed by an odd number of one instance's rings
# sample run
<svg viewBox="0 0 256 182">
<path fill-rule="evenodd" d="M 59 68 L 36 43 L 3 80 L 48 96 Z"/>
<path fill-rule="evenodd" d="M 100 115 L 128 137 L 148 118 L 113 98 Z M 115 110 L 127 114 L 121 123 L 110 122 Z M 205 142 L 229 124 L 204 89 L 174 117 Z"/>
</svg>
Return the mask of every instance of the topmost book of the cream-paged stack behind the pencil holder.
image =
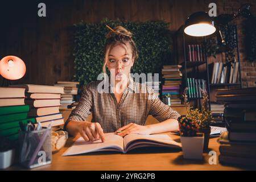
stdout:
<svg viewBox="0 0 256 182">
<path fill-rule="evenodd" d="M 28 93 L 64 93 L 62 86 L 49 85 L 10 85 L 11 87 L 25 88 Z"/>
</svg>

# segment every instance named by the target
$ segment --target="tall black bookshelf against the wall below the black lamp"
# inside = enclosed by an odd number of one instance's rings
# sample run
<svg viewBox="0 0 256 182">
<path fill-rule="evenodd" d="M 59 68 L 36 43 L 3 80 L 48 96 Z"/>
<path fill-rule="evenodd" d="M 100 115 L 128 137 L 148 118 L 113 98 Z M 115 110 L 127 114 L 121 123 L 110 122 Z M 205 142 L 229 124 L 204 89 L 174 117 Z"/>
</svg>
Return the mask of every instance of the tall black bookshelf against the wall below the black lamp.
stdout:
<svg viewBox="0 0 256 182">
<path fill-rule="evenodd" d="M 213 37 L 216 35 L 213 35 Z M 234 59 L 236 60 L 236 63 L 234 61 L 228 61 L 226 60 L 226 55 L 224 51 L 219 52 L 222 55 L 225 55 L 225 59 L 220 59 L 222 68 L 219 68 L 220 73 L 218 73 L 217 82 L 212 82 L 212 65 L 209 63 L 210 57 L 207 56 L 207 39 L 208 37 L 193 37 L 188 36 L 184 33 L 184 25 L 175 32 L 174 37 L 174 52 L 176 53 L 176 63 L 181 64 L 183 66 L 183 86 L 182 89 L 184 90 L 185 87 L 189 86 L 189 82 L 187 78 L 193 77 L 197 79 L 204 79 L 206 81 L 205 89 L 207 90 L 209 94 L 209 109 L 213 111 L 220 111 L 220 108 L 222 107 L 220 102 L 216 102 L 216 98 L 214 96 L 217 89 L 222 88 L 242 88 L 242 82 L 241 82 L 241 64 L 240 64 L 240 52 L 239 52 L 239 45 L 238 45 L 238 36 L 237 36 L 237 27 L 234 26 L 234 41 L 236 41 L 236 47 L 232 50 L 234 50 Z M 201 44 L 204 47 L 203 51 L 203 60 L 195 61 L 192 59 L 191 61 L 191 47 L 188 47 L 188 45 L 197 45 Z M 216 60 L 213 61 L 215 63 Z M 222 63 L 223 62 L 223 63 Z M 238 63 L 238 64 L 237 64 Z M 216 66 L 217 67 L 217 66 Z M 222 69 L 224 67 L 231 67 L 233 68 L 233 72 L 236 70 L 236 75 L 233 76 L 233 78 L 230 78 L 231 76 L 229 74 L 226 74 L 225 72 L 222 72 Z M 228 68 L 226 68 L 228 69 Z M 224 78 L 221 78 L 222 74 L 224 73 Z M 217 73 L 216 73 L 217 74 Z M 226 79 L 226 75 L 227 79 Z M 235 78 L 235 80 L 234 80 Z M 224 79 L 224 80 L 222 80 Z M 230 82 L 230 80 L 233 80 Z M 214 102 L 215 101 L 215 102 Z M 201 108 L 201 98 L 189 98 L 189 103 L 192 106 L 197 106 L 199 109 Z M 212 107 L 212 108 L 211 108 Z M 222 118 L 223 114 L 215 113 L 214 117 Z M 221 119 L 220 119 L 221 120 Z"/>
</svg>

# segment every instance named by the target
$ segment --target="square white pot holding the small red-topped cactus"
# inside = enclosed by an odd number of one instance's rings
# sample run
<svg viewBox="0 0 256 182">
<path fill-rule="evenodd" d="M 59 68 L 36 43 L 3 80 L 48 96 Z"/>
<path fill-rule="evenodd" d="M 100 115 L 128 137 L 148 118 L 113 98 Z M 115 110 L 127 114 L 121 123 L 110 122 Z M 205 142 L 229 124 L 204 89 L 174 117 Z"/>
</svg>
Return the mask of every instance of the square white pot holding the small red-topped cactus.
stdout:
<svg viewBox="0 0 256 182">
<path fill-rule="evenodd" d="M 204 134 L 197 137 L 180 137 L 184 159 L 203 159 Z"/>
</svg>

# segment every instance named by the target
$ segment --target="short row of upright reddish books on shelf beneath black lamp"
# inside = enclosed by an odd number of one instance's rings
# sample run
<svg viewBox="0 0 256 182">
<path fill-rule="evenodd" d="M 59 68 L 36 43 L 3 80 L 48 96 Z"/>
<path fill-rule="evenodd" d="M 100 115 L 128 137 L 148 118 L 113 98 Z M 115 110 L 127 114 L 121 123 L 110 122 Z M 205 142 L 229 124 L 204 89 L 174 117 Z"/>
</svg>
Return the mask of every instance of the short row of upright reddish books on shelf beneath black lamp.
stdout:
<svg viewBox="0 0 256 182">
<path fill-rule="evenodd" d="M 191 62 L 205 61 L 204 46 L 201 44 L 188 45 L 188 60 Z"/>
</svg>

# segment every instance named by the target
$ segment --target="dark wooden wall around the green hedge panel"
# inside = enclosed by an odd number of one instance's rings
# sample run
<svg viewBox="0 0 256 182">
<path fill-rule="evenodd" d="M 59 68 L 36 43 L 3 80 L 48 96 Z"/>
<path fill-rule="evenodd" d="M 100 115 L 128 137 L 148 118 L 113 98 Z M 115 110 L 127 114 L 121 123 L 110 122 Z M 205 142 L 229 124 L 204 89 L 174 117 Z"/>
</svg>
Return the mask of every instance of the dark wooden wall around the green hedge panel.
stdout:
<svg viewBox="0 0 256 182">
<path fill-rule="evenodd" d="M 38 16 L 38 3 L 46 3 L 46 17 Z M 256 15 L 256 1 L 182 1 L 182 0 L 63 0 L 0 2 L 0 58 L 16 55 L 27 66 L 26 75 L 13 84 L 46 84 L 72 80 L 73 24 L 100 22 L 103 18 L 144 22 L 164 20 L 175 32 L 187 16 L 196 11 L 208 11 L 211 2 L 217 4 L 217 15 L 237 13 L 243 3 L 251 3 Z M 242 22 L 237 18 L 243 87 L 255 86 L 256 67 L 247 61 L 243 49 Z M 220 58 L 217 56 L 217 59 Z M 212 61 L 210 57 L 210 61 Z M 170 60 L 174 64 L 174 60 Z M 2 82 L 2 77 L 0 78 Z"/>
</svg>

